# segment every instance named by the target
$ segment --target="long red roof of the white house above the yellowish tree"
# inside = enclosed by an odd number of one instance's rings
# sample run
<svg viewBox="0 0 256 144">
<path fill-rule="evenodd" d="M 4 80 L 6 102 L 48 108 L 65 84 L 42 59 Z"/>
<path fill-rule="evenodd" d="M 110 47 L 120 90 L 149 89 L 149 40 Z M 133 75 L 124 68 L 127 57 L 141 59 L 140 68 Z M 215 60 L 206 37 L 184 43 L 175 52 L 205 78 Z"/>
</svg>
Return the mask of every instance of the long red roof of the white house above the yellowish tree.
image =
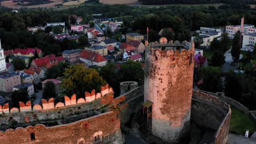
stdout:
<svg viewBox="0 0 256 144">
<path fill-rule="evenodd" d="M 107 61 L 107 59 L 102 57 L 100 54 L 85 50 L 81 52 L 80 57 L 96 63 Z"/>
</svg>

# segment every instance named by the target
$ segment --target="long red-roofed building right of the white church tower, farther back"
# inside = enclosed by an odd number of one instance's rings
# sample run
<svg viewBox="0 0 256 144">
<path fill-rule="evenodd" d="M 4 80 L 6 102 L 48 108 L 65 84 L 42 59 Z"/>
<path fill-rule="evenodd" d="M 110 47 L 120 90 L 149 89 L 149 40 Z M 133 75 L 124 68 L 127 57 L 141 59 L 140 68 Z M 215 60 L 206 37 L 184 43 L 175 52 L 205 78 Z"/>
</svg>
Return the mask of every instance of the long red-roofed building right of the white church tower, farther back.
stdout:
<svg viewBox="0 0 256 144">
<path fill-rule="evenodd" d="M 27 49 L 14 49 L 13 55 L 14 56 L 25 56 L 25 57 L 33 57 L 37 51 L 39 57 L 43 56 L 43 53 L 38 48 L 27 48 Z"/>
</svg>

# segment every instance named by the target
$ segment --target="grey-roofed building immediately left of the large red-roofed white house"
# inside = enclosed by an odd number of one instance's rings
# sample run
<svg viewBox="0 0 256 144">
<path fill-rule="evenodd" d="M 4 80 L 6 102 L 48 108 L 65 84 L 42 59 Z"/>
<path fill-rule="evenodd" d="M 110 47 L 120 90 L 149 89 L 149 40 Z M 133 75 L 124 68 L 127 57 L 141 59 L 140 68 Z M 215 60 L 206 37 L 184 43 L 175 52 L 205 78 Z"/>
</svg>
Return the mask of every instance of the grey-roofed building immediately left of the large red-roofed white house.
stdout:
<svg viewBox="0 0 256 144">
<path fill-rule="evenodd" d="M 80 57 L 80 53 L 82 50 L 80 49 L 75 49 L 75 50 L 65 50 L 62 52 L 63 58 L 65 58 L 68 62 L 77 62 Z"/>
</svg>

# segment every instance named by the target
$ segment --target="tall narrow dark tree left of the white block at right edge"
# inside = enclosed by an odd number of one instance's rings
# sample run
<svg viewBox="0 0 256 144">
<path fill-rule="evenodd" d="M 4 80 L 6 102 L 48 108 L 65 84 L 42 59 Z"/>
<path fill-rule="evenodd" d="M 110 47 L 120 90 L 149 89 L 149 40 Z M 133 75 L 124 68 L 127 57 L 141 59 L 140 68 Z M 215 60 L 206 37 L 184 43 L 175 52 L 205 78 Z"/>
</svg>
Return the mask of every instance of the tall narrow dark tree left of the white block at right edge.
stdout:
<svg viewBox="0 0 256 144">
<path fill-rule="evenodd" d="M 234 37 L 233 43 L 232 43 L 231 56 L 234 59 L 234 62 L 237 62 L 240 57 L 241 45 L 239 44 L 239 41 L 240 41 L 240 31 L 238 31 L 235 34 L 235 37 Z"/>
</svg>

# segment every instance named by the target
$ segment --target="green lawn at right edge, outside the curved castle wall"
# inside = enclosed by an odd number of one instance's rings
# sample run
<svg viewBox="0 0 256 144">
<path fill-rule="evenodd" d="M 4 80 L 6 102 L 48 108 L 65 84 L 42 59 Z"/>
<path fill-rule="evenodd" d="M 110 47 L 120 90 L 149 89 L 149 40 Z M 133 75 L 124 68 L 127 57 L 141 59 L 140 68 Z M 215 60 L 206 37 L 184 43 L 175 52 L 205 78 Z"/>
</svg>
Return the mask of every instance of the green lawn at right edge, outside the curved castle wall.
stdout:
<svg viewBox="0 0 256 144">
<path fill-rule="evenodd" d="M 242 111 L 231 107 L 231 121 L 229 131 L 239 135 L 245 135 L 246 129 L 249 129 L 249 134 L 256 131 L 256 122 L 252 117 Z"/>
</svg>

